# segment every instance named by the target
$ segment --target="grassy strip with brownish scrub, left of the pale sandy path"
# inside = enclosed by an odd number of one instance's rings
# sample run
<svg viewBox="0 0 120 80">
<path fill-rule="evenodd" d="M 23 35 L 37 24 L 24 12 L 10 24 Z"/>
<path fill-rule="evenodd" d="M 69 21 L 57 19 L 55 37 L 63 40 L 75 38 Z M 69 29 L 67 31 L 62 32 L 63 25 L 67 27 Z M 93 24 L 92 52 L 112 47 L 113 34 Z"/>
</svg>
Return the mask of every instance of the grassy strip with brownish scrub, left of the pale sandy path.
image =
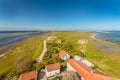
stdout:
<svg viewBox="0 0 120 80">
<path fill-rule="evenodd" d="M 21 73 L 34 70 L 34 61 L 43 48 L 43 38 L 30 38 L 6 52 L 6 55 L 0 58 L 0 80 L 16 80 Z"/>
</svg>

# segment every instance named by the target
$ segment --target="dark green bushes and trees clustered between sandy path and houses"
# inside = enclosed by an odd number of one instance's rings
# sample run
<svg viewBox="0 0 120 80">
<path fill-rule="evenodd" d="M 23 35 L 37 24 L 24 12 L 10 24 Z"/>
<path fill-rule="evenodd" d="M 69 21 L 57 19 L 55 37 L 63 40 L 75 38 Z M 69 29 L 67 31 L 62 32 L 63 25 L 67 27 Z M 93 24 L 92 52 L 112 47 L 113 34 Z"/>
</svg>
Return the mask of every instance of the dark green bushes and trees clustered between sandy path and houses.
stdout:
<svg viewBox="0 0 120 80">
<path fill-rule="evenodd" d="M 57 33 L 55 32 L 54 35 L 55 34 Z M 77 48 L 78 45 L 74 43 L 73 40 L 70 41 L 64 39 L 64 37 L 62 37 L 61 35 L 55 35 L 57 37 L 56 39 L 54 39 L 53 41 L 47 41 L 47 52 L 44 55 L 42 61 L 42 64 L 44 64 L 44 66 L 53 63 L 60 63 L 61 67 L 65 68 L 67 61 L 63 61 L 60 59 L 60 50 L 65 50 L 69 53 L 71 57 L 74 57 L 74 55 L 80 55 L 79 49 Z M 61 44 L 57 42 L 58 39 L 62 39 Z"/>
</svg>

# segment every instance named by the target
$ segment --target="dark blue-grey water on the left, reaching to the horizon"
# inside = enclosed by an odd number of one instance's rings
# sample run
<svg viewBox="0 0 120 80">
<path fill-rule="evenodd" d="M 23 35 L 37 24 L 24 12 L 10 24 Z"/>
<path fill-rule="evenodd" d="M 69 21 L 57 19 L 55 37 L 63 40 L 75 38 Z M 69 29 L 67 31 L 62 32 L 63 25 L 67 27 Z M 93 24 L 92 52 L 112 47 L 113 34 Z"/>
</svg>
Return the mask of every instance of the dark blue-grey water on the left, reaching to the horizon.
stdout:
<svg viewBox="0 0 120 80">
<path fill-rule="evenodd" d="M 21 42 L 33 36 L 41 35 L 42 31 L 0 31 L 0 47 Z"/>
</svg>

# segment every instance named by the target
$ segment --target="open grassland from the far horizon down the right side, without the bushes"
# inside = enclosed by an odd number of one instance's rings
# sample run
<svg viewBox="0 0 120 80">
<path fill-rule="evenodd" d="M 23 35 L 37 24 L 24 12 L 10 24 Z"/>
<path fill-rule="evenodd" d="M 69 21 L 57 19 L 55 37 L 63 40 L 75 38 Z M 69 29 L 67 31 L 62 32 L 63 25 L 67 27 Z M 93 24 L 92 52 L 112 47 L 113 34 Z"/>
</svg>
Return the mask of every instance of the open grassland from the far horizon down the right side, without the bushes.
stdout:
<svg viewBox="0 0 120 80">
<path fill-rule="evenodd" d="M 62 38 L 65 42 L 74 46 L 73 51 L 68 51 L 71 57 L 80 55 L 79 51 L 82 45 L 79 45 L 77 41 L 86 39 L 88 42 L 83 57 L 96 65 L 95 70 L 99 70 L 111 77 L 120 78 L 120 54 L 116 52 L 117 49 L 120 49 L 119 44 L 93 39 L 90 37 L 92 35 L 90 32 L 54 32 L 53 35 L 57 36 L 57 38 Z M 99 44 L 115 46 L 113 48 L 115 50 L 100 48 Z"/>
</svg>

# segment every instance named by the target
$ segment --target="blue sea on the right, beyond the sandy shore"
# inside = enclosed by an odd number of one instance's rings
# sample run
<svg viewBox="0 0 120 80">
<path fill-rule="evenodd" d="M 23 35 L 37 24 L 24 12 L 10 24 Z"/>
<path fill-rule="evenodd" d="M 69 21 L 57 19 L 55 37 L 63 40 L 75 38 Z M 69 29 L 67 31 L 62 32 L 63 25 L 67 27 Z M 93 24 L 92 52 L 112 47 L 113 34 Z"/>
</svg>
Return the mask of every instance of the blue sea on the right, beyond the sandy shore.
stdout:
<svg viewBox="0 0 120 80">
<path fill-rule="evenodd" d="M 99 31 L 95 32 L 96 38 L 116 42 L 120 44 L 120 31 Z"/>
</svg>

